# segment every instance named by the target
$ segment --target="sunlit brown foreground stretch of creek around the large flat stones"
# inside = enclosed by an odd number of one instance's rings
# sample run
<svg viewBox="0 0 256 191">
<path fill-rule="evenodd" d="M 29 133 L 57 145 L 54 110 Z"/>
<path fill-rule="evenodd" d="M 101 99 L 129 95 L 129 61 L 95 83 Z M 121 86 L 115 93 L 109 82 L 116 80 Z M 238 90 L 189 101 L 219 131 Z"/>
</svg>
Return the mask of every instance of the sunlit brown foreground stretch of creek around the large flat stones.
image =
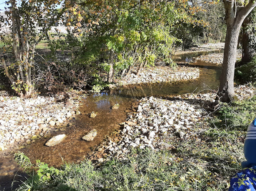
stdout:
<svg viewBox="0 0 256 191">
<path fill-rule="evenodd" d="M 0 155 L 0 191 L 12 190 L 12 181 L 20 180 L 18 175 L 25 175 L 14 161 L 15 151 L 24 152 L 32 163 L 39 159 L 41 162 L 56 168 L 60 168 L 63 161 L 78 163 L 86 158 L 93 147 L 103 141 L 104 136 L 119 129 L 120 125 L 118 124 L 126 119 L 128 112 L 132 112 L 130 99 L 120 99 L 115 95 L 109 96 L 107 92 L 100 95 L 90 95 L 83 102 L 84 104 L 80 108 L 81 114 L 76 117 L 76 120 L 71 121 L 72 125 L 48 132 L 45 137 L 37 139 L 22 149 L 15 149 L 12 153 L 5 152 L 5 154 Z M 120 107 L 111 109 L 117 103 Z M 97 116 L 90 118 L 91 112 L 97 113 Z M 98 131 L 97 136 L 91 142 L 84 141 L 82 137 L 92 129 Z M 45 146 L 51 137 L 58 134 L 66 134 L 66 139 L 56 146 Z M 19 184 L 20 182 L 15 182 L 13 189 L 17 188 Z"/>
</svg>

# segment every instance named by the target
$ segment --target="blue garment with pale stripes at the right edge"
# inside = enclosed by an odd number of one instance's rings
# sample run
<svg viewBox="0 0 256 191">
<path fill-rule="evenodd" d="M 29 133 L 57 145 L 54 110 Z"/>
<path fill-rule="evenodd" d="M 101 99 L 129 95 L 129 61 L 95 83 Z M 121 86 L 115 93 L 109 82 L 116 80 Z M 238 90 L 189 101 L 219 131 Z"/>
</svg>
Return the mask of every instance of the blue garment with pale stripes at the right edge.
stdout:
<svg viewBox="0 0 256 191">
<path fill-rule="evenodd" d="M 247 129 L 244 141 L 244 157 L 246 161 L 242 162 L 242 168 L 256 165 L 256 118 Z"/>
</svg>

